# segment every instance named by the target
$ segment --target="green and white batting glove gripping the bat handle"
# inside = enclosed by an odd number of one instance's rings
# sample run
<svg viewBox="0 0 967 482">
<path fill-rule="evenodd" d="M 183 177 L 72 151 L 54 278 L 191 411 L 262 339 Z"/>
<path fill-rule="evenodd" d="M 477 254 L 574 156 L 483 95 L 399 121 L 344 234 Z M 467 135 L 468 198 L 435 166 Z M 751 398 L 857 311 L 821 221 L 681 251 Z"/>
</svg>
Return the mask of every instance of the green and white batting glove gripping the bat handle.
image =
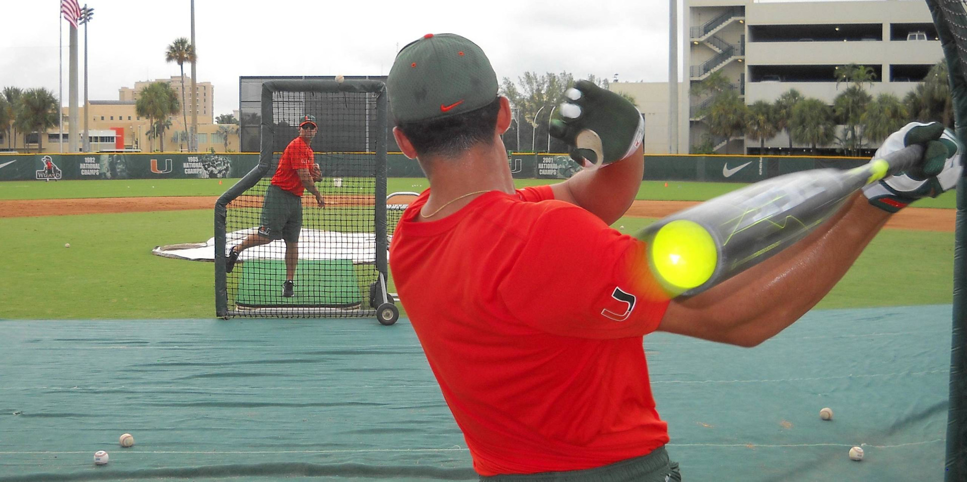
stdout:
<svg viewBox="0 0 967 482">
<path fill-rule="evenodd" d="M 923 161 L 908 171 L 866 184 L 869 204 L 896 213 L 922 197 L 937 197 L 957 184 L 963 166 L 963 146 L 951 129 L 940 123 L 912 122 L 890 134 L 873 158 L 880 158 L 913 144 L 923 144 Z"/>
</svg>

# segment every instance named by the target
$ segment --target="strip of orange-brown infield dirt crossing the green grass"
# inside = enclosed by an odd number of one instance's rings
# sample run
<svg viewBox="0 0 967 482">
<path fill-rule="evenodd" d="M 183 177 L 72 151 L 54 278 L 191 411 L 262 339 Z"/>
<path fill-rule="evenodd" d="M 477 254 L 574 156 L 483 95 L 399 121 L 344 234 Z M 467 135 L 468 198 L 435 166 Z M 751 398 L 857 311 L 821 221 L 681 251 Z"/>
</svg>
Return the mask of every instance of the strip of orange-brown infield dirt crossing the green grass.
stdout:
<svg viewBox="0 0 967 482">
<path fill-rule="evenodd" d="M 28 217 L 93 213 L 143 213 L 151 211 L 214 210 L 217 197 L 125 197 L 97 199 L 44 199 L 0 201 L 0 217 Z M 314 201 L 312 199 L 308 199 Z M 353 199 L 331 199 L 331 204 L 361 204 Z M 627 215 L 663 217 L 693 206 L 692 201 L 635 201 Z M 954 210 L 907 208 L 887 222 L 888 229 L 952 232 Z"/>
</svg>

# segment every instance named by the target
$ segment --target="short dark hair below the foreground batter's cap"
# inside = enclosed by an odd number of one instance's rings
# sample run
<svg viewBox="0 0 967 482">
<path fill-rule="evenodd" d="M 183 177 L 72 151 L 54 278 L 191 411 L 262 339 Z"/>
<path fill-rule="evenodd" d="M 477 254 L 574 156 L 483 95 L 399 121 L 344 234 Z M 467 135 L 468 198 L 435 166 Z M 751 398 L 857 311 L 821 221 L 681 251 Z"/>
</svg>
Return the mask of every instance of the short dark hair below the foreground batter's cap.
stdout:
<svg viewBox="0 0 967 482">
<path fill-rule="evenodd" d="M 397 128 L 406 134 L 417 156 L 456 156 L 475 144 L 490 145 L 497 128 L 500 98 L 479 109 L 443 119 L 402 123 Z"/>
</svg>

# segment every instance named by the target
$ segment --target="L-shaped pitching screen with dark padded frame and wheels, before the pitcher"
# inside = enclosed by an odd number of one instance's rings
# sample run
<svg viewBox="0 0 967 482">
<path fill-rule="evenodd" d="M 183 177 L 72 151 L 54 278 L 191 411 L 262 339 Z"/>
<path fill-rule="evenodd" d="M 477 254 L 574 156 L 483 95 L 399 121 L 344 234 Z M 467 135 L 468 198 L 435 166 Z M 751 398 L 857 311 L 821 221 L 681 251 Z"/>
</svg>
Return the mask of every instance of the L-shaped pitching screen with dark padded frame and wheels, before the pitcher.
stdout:
<svg viewBox="0 0 967 482">
<path fill-rule="evenodd" d="M 395 323 L 396 307 L 386 289 L 384 84 L 266 82 L 261 116 L 259 165 L 216 206 L 218 315 L 378 315 L 384 325 Z M 298 184 L 301 197 L 273 184 L 280 156 L 306 120 L 318 127 L 310 146 L 321 174 L 314 184 L 323 206 Z M 233 249 L 237 262 L 226 262 Z"/>
</svg>

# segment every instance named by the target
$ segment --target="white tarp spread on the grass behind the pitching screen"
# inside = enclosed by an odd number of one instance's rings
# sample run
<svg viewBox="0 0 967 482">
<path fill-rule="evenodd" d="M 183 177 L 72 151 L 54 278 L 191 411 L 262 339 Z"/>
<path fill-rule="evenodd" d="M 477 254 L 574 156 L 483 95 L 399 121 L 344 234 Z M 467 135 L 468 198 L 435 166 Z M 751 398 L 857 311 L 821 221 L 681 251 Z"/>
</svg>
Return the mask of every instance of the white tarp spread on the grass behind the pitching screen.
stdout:
<svg viewBox="0 0 967 482">
<path fill-rule="evenodd" d="M 246 236 L 257 231 L 249 228 L 225 235 L 226 249 L 238 245 Z M 339 233 L 336 231 L 321 231 L 317 229 L 303 229 L 299 234 L 300 260 L 353 260 L 359 265 L 375 263 L 376 235 L 372 233 Z M 155 246 L 153 254 L 165 258 L 176 258 L 190 261 L 215 261 L 215 238 L 205 242 L 188 242 Z M 242 251 L 239 260 L 285 259 L 285 242 L 272 241 L 261 246 L 251 247 Z"/>
</svg>

